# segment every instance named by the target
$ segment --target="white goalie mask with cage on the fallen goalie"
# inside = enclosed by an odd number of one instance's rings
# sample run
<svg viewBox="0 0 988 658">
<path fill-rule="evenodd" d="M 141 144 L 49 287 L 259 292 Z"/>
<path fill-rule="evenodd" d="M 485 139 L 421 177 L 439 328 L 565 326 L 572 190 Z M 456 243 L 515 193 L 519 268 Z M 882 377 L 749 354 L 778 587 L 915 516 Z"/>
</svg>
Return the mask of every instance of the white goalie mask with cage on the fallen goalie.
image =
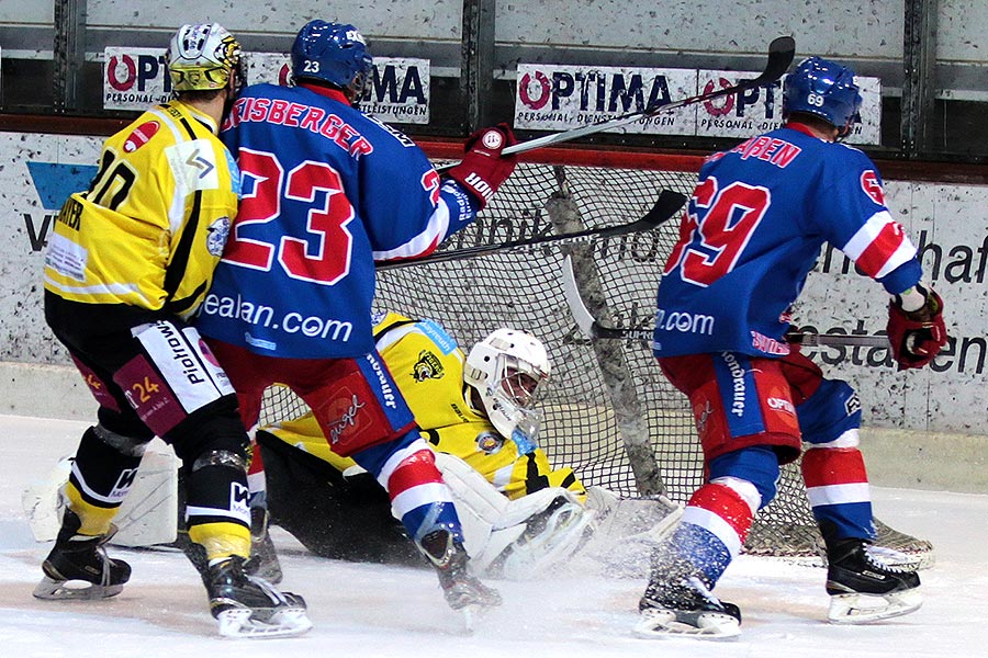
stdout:
<svg viewBox="0 0 988 658">
<path fill-rule="evenodd" d="M 532 409 L 549 378 L 549 355 L 530 333 L 498 329 L 473 345 L 463 381 L 480 394 L 491 423 L 518 443 L 518 453 L 535 450 L 541 415 Z"/>
</svg>

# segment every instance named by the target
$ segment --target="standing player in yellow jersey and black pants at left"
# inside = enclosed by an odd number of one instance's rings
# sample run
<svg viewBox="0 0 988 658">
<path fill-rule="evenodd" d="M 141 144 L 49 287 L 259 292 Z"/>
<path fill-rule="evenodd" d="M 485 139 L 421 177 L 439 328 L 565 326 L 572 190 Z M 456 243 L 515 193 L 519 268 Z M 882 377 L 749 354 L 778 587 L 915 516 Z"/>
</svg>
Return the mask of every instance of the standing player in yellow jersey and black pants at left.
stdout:
<svg viewBox="0 0 988 658">
<path fill-rule="evenodd" d="M 34 594 L 123 589 L 131 568 L 103 544 L 157 435 L 188 473 L 186 524 L 209 564 L 220 632 L 295 634 L 311 626 L 302 599 L 245 571 L 247 433 L 226 374 L 186 322 L 237 212 L 239 172 L 216 135 L 245 82 L 240 46 L 216 23 L 183 25 L 167 59 L 175 99 L 106 139 L 90 189 L 69 197 L 48 240 L 45 319 L 99 402 L 99 421 L 80 440 Z"/>
</svg>

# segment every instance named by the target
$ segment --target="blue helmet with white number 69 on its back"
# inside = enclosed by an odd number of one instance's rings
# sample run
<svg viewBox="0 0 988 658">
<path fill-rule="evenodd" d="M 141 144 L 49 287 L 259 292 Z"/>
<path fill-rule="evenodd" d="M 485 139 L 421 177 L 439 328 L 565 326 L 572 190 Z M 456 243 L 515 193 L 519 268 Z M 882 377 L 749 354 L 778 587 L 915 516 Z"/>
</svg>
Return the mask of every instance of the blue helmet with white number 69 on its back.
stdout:
<svg viewBox="0 0 988 658">
<path fill-rule="evenodd" d="M 854 71 L 835 61 L 810 57 L 786 76 L 783 83 L 783 116 L 793 112 L 815 114 L 844 135 L 861 121 L 861 93 Z"/>
</svg>

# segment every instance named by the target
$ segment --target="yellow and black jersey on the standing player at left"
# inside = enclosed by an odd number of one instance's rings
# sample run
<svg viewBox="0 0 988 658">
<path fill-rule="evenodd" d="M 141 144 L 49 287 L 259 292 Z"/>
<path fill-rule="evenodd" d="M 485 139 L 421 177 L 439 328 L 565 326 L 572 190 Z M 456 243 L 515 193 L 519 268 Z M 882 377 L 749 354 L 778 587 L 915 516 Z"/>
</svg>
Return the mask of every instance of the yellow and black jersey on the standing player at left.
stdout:
<svg viewBox="0 0 988 658">
<path fill-rule="evenodd" d="M 48 238 L 45 290 L 72 303 L 194 313 L 239 196 L 216 131 L 172 101 L 106 139 L 90 189 L 66 201 Z"/>
</svg>

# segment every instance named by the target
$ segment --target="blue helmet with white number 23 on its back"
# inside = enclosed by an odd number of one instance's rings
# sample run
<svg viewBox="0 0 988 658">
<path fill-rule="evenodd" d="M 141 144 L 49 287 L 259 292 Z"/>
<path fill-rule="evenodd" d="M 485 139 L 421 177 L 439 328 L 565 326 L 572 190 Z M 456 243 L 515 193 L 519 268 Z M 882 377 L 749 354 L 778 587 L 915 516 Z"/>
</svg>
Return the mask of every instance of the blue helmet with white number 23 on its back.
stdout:
<svg viewBox="0 0 988 658">
<path fill-rule="evenodd" d="M 357 101 L 371 73 L 373 59 L 353 25 L 310 21 L 292 44 L 292 76 L 339 87 Z"/>
</svg>

